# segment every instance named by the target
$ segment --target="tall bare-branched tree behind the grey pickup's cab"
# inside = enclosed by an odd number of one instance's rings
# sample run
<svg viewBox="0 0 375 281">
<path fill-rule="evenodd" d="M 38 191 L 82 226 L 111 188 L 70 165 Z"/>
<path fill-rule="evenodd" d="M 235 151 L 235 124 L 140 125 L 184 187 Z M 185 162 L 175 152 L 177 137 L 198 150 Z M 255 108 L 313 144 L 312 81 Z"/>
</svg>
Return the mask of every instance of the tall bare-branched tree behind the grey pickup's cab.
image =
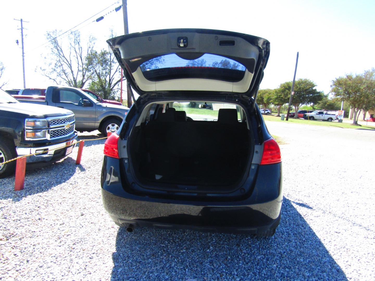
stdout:
<svg viewBox="0 0 375 281">
<path fill-rule="evenodd" d="M 87 43 L 82 42 L 79 31 L 72 31 L 68 44 L 58 38 L 57 30 L 47 32 L 50 42 L 50 53 L 44 59 L 45 68 L 40 67 L 43 76 L 56 84 L 67 84 L 75 88 L 83 88 L 91 79 L 91 72 L 87 66 L 86 58 L 93 52 L 95 38 L 90 36 Z"/>
</svg>

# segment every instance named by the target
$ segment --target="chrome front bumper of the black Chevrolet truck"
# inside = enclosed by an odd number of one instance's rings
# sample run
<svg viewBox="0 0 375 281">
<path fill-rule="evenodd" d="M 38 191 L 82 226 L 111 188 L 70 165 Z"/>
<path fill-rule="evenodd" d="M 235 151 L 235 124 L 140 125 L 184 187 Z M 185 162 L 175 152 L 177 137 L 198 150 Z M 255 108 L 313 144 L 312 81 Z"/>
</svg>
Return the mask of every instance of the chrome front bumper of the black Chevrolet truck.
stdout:
<svg viewBox="0 0 375 281">
<path fill-rule="evenodd" d="M 35 162 L 49 162 L 52 159 L 56 158 L 63 158 L 69 153 L 72 152 L 72 149 L 76 146 L 77 141 L 77 133 L 75 132 L 75 136 L 68 142 L 61 142 L 54 145 L 49 146 L 40 146 L 40 147 L 16 147 L 17 156 L 23 156 L 28 154 L 36 154 L 37 155 L 30 155 L 26 157 L 27 163 L 35 163 Z"/>
</svg>

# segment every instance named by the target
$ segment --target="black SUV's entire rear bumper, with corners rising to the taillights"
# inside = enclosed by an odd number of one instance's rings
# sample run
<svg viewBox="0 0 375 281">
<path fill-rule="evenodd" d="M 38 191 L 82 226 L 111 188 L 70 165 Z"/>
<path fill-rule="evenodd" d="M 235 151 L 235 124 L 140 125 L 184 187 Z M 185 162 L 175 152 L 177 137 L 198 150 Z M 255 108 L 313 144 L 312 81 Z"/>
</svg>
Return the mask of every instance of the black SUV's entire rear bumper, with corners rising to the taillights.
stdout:
<svg viewBox="0 0 375 281">
<path fill-rule="evenodd" d="M 119 161 L 105 157 L 101 191 L 104 208 L 123 226 L 259 234 L 279 224 L 281 163 L 259 166 L 251 194 L 241 200 L 198 201 L 129 193 L 129 186 L 123 186 L 127 181 L 121 180 Z"/>
</svg>

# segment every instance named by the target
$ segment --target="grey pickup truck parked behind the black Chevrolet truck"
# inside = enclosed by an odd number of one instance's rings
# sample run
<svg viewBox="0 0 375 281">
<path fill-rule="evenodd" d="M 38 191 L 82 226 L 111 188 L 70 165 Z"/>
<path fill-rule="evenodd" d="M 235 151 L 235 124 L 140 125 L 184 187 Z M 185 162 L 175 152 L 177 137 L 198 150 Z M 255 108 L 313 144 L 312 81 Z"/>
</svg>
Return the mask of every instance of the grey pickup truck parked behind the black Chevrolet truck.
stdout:
<svg viewBox="0 0 375 281">
<path fill-rule="evenodd" d="M 45 96 L 17 96 L 20 102 L 36 103 L 69 109 L 75 114 L 75 129 L 80 132 L 99 132 L 107 135 L 116 132 L 129 108 L 121 105 L 100 103 L 81 89 L 72 87 L 48 87 Z"/>
</svg>

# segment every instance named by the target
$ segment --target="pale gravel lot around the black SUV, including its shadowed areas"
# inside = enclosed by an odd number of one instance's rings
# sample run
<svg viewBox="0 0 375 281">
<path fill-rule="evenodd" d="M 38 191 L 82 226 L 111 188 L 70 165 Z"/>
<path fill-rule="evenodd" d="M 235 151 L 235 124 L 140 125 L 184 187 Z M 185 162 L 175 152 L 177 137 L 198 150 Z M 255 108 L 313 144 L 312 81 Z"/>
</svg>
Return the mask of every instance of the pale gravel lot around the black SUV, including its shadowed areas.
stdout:
<svg viewBox="0 0 375 281">
<path fill-rule="evenodd" d="M 0 279 L 374 280 L 375 132 L 267 126 L 287 142 L 282 220 L 272 238 L 126 233 L 102 207 L 104 141 L 92 141 L 81 165 L 76 148 L 28 171 L 23 191 L 13 191 L 14 177 L 0 179 Z"/>
</svg>

